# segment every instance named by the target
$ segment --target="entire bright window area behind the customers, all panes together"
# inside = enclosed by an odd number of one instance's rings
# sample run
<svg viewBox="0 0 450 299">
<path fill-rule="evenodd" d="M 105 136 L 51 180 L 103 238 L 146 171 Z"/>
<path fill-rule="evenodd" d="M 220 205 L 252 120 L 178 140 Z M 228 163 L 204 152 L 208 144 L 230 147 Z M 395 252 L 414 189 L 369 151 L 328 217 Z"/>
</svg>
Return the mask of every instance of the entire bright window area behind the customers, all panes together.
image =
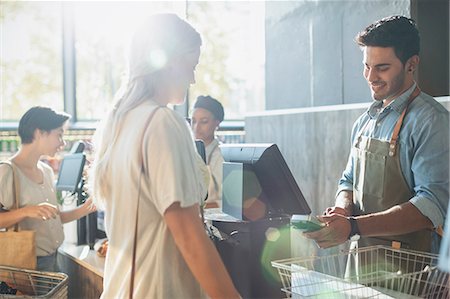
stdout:
<svg viewBox="0 0 450 299">
<path fill-rule="evenodd" d="M 187 16 L 202 35 L 191 106 L 198 95 L 209 94 L 223 103 L 226 119 L 264 109 L 264 2 L 4 1 L 0 7 L 2 122 L 17 121 L 34 105 L 69 112 L 76 107 L 74 121 L 102 118 L 121 85 L 134 28 L 158 12 Z M 76 90 L 76 105 L 66 99 L 69 107 L 64 106 L 63 36 L 75 49 L 65 58 L 75 65 L 75 79 L 65 79 Z"/>
</svg>

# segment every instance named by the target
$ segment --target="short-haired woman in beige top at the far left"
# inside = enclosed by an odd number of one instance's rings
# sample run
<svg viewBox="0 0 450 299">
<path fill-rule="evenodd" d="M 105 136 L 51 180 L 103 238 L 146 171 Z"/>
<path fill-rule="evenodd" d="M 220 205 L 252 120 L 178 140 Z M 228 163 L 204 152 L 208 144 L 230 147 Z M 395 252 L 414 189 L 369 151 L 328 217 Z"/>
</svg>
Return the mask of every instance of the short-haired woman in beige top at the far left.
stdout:
<svg viewBox="0 0 450 299">
<path fill-rule="evenodd" d="M 13 203 L 13 172 L 8 165 L 0 165 L 0 228 L 19 223 L 20 229 L 36 231 L 39 271 L 58 270 L 56 251 L 64 240 L 62 223 L 95 210 L 91 200 L 87 200 L 76 209 L 60 211 L 53 170 L 40 161 L 41 156 L 52 157 L 64 147 L 64 125 L 69 118 L 47 107 L 33 107 L 20 119 L 22 145 L 9 159 L 19 180 L 19 209 L 14 209 Z"/>
</svg>

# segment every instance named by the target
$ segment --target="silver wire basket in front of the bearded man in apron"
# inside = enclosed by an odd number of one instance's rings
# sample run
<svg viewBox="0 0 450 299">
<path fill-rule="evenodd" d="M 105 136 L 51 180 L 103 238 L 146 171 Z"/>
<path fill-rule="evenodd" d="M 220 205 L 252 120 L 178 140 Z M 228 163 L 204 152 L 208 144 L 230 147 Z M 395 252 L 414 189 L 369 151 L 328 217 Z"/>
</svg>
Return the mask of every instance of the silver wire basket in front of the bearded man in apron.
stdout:
<svg viewBox="0 0 450 299">
<path fill-rule="evenodd" d="M 384 246 L 273 261 L 289 298 L 444 298 L 449 274 L 438 256 Z"/>
</svg>

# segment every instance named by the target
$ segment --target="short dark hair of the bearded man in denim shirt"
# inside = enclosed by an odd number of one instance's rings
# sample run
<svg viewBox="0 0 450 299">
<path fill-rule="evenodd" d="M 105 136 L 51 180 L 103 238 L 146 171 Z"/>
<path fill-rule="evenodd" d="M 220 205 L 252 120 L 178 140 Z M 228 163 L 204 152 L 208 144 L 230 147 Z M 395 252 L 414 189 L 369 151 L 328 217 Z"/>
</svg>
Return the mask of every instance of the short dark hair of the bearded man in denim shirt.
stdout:
<svg viewBox="0 0 450 299">
<path fill-rule="evenodd" d="M 356 35 L 361 47 L 392 47 L 395 55 L 405 64 L 419 55 L 420 36 L 414 20 L 404 16 L 390 16 L 369 25 Z"/>
</svg>

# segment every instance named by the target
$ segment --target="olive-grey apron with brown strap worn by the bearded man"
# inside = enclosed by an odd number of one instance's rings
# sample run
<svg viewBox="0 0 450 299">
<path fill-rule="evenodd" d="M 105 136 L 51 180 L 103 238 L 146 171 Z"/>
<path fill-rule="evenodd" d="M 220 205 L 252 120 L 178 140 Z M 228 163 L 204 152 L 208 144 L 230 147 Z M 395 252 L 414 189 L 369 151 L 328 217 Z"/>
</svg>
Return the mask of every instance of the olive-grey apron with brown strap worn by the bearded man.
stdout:
<svg viewBox="0 0 450 299">
<path fill-rule="evenodd" d="M 414 194 L 409 189 L 401 171 L 398 154 L 400 145 L 397 139 L 408 106 L 419 94 L 420 89 L 416 86 L 397 120 L 390 141 L 362 136 L 370 121 L 359 132 L 352 148 L 354 215 L 384 211 L 395 205 L 406 203 L 413 197 Z M 382 238 L 361 237 L 359 247 L 396 244 L 396 247 L 430 252 L 431 237 L 432 232 L 429 230 Z"/>
</svg>

